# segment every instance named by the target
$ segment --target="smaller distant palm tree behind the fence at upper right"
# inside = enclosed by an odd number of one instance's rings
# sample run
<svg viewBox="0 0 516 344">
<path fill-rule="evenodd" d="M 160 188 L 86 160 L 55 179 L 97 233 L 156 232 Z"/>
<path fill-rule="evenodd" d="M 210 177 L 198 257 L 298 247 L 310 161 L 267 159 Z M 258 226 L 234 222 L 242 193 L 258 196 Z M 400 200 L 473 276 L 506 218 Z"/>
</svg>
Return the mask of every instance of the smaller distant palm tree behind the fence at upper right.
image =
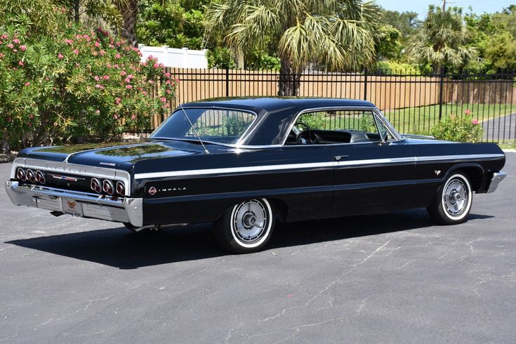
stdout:
<svg viewBox="0 0 516 344">
<path fill-rule="evenodd" d="M 420 63 L 429 63 L 437 73 L 441 67 L 462 67 L 475 58 L 475 48 L 465 46 L 467 35 L 461 8 L 442 10 L 428 6 L 423 32 L 418 41 L 409 46 L 409 55 Z"/>
</svg>

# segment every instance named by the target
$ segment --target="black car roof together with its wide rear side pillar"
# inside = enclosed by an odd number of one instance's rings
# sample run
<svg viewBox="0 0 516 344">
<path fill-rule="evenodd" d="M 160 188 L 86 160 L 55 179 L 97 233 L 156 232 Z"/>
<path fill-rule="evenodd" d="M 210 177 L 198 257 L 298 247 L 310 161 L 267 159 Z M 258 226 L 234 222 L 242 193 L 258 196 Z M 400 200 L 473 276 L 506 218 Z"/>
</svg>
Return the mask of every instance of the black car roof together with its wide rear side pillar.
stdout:
<svg viewBox="0 0 516 344">
<path fill-rule="evenodd" d="M 253 121 L 241 141 L 241 145 L 251 146 L 282 145 L 298 113 L 304 110 L 324 107 L 374 107 L 373 103 L 365 100 L 292 97 L 212 98 L 188 102 L 182 106 L 218 107 L 256 113 L 257 119 Z"/>
</svg>

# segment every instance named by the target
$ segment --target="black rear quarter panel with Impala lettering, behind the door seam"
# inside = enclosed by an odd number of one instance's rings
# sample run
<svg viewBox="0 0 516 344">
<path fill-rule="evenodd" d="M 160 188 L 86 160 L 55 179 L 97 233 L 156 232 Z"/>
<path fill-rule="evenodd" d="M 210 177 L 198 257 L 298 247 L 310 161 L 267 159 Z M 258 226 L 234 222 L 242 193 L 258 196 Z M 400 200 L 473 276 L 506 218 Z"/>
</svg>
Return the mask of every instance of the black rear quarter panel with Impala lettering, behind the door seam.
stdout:
<svg viewBox="0 0 516 344">
<path fill-rule="evenodd" d="M 282 214 L 286 220 L 324 218 L 331 208 L 333 167 L 298 166 L 328 164 L 329 161 L 329 149 L 316 146 L 232 149 L 141 161 L 134 167 L 135 190 L 137 197 L 145 199 L 145 224 L 213 221 L 249 197 L 266 197 L 276 202 L 277 209 L 286 209 Z M 289 165 L 297 167 L 285 168 Z M 269 167 L 263 171 L 231 171 L 242 166 Z M 208 170 L 213 173 L 204 174 Z M 150 171 L 159 174 L 148 175 Z M 166 176 L 169 171 L 177 176 Z M 181 171 L 185 174 L 201 171 L 203 174 L 182 176 Z M 156 190 L 154 194 L 151 194 L 151 188 Z"/>
</svg>

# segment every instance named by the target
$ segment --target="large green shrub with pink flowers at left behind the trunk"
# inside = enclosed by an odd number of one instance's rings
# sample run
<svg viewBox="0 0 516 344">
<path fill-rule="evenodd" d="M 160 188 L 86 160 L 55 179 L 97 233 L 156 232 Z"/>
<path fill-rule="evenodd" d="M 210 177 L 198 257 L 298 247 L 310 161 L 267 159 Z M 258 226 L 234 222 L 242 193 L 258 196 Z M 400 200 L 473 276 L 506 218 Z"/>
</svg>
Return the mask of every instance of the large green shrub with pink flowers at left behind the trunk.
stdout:
<svg viewBox="0 0 516 344">
<path fill-rule="evenodd" d="M 32 31 L 23 17 L 0 27 L 0 139 L 14 146 L 110 140 L 170 112 L 176 80 L 163 65 L 140 63 L 138 48 L 59 17 L 55 37 Z"/>
</svg>

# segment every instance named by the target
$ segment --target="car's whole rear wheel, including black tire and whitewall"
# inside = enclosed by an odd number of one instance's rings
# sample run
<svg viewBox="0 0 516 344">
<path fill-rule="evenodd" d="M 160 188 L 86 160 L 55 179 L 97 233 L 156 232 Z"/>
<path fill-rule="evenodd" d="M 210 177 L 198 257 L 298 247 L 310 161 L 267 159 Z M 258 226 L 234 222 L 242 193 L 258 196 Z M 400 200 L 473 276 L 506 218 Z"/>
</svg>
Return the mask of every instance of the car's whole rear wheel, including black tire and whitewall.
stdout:
<svg viewBox="0 0 516 344">
<path fill-rule="evenodd" d="M 265 198 L 235 204 L 214 223 L 218 243 L 234 253 L 260 251 L 273 229 L 274 209 Z"/>
</svg>

